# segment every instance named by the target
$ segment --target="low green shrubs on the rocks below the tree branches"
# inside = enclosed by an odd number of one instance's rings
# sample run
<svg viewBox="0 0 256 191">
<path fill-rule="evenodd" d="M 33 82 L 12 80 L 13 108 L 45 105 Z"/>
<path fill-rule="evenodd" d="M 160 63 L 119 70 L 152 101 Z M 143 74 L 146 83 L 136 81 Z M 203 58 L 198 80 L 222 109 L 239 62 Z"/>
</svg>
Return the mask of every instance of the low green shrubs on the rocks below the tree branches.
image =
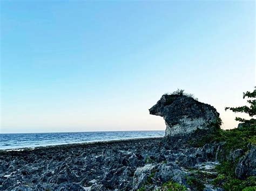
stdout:
<svg viewBox="0 0 256 191">
<path fill-rule="evenodd" d="M 209 141 L 210 140 L 210 141 Z M 218 176 L 213 180 L 213 185 L 222 187 L 225 190 L 255 190 L 256 179 L 251 176 L 246 180 L 240 180 L 235 176 L 236 161 L 227 160 L 231 151 L 241 148 L 244 153 L 248 151 L 247 145 L 256 144 L 256 126 L 242 127 L 232 130 L 217 130 L 216 132 L 206 135 L 201 139 L 194 141 L 192 144 L 203 146 L 206 143 L 225 142 L 220 153 L 221 164 L 216 167 Z M 191 181 L 193 183 L 193 181 Z"/>
</svg>

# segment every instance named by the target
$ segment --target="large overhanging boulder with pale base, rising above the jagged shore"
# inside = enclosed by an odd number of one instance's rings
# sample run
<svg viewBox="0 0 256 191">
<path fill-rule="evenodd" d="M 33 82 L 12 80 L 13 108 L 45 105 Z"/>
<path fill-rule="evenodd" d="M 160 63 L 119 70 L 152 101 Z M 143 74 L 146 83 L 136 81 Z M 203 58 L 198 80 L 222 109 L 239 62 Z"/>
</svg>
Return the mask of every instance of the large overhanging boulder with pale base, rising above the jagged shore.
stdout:
<svg viewBox="0 0 256 191">
<path fill-rule="evenodd" d="M 186 95 L 163 95 L 149 111 L 164 117 L 166 136 L 188 135 L 197 129 L 213 130 L 219 124 L 219 113 L 214 107 Z"/>
</svg>

